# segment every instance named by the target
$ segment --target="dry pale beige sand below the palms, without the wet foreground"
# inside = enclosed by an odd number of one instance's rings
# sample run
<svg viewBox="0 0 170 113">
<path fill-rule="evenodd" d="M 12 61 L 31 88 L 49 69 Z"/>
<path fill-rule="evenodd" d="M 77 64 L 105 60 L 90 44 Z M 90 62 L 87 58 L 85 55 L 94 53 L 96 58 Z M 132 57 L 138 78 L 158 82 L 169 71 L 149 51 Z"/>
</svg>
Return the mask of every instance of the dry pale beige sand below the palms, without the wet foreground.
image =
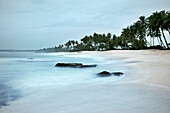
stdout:
<svg viewBox="0 0 170 113">
<path fill-rule="evenodd" d="M 98 52 L 103 56 L 118 58 L 127 62 L 136 81 L 170 87 L 170 51 L 160 50 L 118 50 Z"/>
</svg>

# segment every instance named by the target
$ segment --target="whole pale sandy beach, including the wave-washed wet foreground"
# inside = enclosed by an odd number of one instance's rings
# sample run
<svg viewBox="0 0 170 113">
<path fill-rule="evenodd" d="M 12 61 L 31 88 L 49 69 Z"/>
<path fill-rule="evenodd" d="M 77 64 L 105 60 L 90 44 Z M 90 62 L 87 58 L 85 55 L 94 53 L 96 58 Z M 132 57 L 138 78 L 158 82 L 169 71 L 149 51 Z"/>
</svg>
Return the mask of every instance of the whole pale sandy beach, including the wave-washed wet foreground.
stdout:
<svg viewBox="0 0 170 113">
<path fill-rule="evenodd" d="M 0 113 L 170 113 L 170 51 L 97 53 L 127 62 L 117 83 L 79 85 L 39 92 L 0 109 Z"/>
</svg>

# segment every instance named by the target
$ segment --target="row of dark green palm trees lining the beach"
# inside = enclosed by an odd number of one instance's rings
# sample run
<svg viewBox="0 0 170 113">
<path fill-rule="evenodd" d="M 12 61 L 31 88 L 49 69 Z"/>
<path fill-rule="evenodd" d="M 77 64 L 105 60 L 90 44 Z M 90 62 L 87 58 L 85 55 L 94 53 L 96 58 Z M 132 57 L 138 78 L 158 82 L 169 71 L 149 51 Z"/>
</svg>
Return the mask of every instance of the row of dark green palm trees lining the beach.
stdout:
<svg viewBox="0 0 170 113">
<path fill-rule="evenodd" d="M 127 28 L 122 29 L 121 35 L 116 36 L 111 33 L 85 36 L 78 41 L 69 40 L 58 47 L 47 48 L 47 51 L 101 51 L 113 49 L 146 49 L 151 45 L 146 37 L 157 38 L 162 49 L 169 49 L 164 31 L 170 34 L 170 12 L 154 12 L 148 18 L 140 16 L 139 20 Z M 163 37 L 163 39 L 161 38 Z M 165 43 L 164 43 L 165 42 Z"/>
</svg>

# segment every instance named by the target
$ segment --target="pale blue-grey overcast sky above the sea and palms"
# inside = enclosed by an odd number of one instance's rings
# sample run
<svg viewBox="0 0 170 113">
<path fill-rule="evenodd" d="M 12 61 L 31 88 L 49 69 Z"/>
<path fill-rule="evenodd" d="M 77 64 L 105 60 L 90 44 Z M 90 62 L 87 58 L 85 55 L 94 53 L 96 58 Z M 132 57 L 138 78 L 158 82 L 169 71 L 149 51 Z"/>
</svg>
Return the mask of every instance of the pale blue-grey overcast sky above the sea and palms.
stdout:
<svg viewBox="0 0 170 113">
<path fill-rule="evenodd" d="M 52 47 L 94 32 L 120 35 L 139 16 L 169 6 L 170 0 L 0 0 L 0 49 Z"/>
</svg>

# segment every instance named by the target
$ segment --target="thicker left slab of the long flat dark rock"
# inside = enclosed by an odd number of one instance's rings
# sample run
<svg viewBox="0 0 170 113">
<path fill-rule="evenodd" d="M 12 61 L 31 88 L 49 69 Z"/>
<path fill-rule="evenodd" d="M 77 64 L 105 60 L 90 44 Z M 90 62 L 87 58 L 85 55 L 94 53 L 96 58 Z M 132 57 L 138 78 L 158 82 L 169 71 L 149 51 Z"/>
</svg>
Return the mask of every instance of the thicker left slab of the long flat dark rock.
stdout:
<svg viewBox="0 0 170 113">
<path fill-rule="evenodd" d="M 56 67 L 81 67 L 82 63 L 57 63 Z"/>
</svg>

